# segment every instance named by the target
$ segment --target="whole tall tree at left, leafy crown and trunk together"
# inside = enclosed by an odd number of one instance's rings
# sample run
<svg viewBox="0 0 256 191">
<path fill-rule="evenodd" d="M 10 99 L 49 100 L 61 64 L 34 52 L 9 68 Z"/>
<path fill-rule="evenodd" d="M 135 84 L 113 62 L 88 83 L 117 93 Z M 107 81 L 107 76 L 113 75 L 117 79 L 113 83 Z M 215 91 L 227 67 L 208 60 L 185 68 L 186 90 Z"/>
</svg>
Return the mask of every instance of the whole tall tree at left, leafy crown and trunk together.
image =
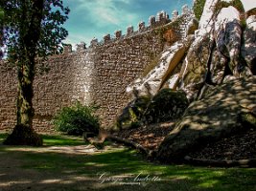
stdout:
<svg viewBox="0 0 256 191">
<path fill-rule="evenodd" d="M 68 32 L 62 28 L 69 9 L 60 0 L 1 0 L 2 44 L 17 69 L 17 122 L 6 144 L 41 145 L 33 129 L 33 82 L 36 58 L 60 49 Z"/>
</svg>

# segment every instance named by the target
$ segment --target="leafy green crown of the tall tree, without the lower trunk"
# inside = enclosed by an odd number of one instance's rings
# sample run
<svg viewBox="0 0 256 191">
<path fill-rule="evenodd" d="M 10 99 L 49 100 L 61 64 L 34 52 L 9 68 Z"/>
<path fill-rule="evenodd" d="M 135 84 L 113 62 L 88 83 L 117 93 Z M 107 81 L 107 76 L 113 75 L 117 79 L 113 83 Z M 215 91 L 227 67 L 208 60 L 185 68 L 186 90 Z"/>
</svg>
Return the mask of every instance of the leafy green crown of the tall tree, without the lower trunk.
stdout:
<svg viewBox="0 0 256 191">
<path fill-rule="evenodd" d="M 5 12 L 2 41 L 8 47 L 8 56 L 12 61 L 23 56 L 26 36 L 31 37 L 29 51 L 39 57 L 60 50 L 61 41 L 68 34 L 61 26 L 69 13 L 69 9 L 62 4 L 58 0 L 1 0 L 0 8 Z M 36 24 L 38 22 L 39 25 Z M 31 30 L 34 30 L 34 34 Z M 34 39 L 35 35 L 38 35 L 38 39 Z"/>
</svg>

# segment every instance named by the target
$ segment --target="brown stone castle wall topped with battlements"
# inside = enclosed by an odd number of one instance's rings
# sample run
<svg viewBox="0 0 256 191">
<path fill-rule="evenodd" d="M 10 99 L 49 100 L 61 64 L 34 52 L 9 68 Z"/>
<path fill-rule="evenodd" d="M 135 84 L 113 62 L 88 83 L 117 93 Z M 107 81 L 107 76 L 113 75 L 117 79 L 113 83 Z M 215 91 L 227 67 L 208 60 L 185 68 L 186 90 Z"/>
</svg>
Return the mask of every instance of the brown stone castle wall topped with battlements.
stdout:
<svg viewBox="0 0 256 191">
<path fill-rule="evenodd" d="M 81 43 L 76 52 L 67 46 L 62 54 L 48 57 L 43 68 L 49 71 L 35 75 L 35 130 L 53 131 L 51 119 L 62 107 L 77 100 L 85 105 L 100 105 L 98 115 L 102 127 L 111 127 L 131 99 L 126 94 L 128 84 L 167 46 L 164 33 L 159 33 L 159 29 L 171 26 L 176 36 L 184 37 L 193 15 L 187 7 L 183 11 L 186 12 L 180 16 L 175 14 L 173 18 L 181 21 L 177 27 L 172 27 L 172 20 L 161 11 L 156 19 L 150 17 L 148 27 L 140 22 L 138 31 L 133 32 L 133 27 L 128 27 L 127 34 L 117 31 L 115 38 L 106 34 L 102 42 L 93 39 L 88 49 Z M 36 65 L 38 71 L 41 65 Z M 16 122 L 16 71 L 2 61 L 0 74 L 0 130 L 11 130 Z"/>
</svg>

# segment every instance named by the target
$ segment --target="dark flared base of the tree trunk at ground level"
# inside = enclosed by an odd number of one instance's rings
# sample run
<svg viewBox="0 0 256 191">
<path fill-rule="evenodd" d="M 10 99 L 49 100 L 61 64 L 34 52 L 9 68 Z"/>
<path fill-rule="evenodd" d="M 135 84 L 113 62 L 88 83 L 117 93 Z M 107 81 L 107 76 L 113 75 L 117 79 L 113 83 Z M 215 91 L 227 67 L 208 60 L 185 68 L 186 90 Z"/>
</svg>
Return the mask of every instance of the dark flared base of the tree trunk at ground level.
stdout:
<svg viewBox="0 0 256 191">
<path fill-rule="evenodd" d="M 4 144 L 41 146 L 43 140 L 32 128 L 21 124 L 14 127 L 12 134 L 5 139 Z"/>
</svg>

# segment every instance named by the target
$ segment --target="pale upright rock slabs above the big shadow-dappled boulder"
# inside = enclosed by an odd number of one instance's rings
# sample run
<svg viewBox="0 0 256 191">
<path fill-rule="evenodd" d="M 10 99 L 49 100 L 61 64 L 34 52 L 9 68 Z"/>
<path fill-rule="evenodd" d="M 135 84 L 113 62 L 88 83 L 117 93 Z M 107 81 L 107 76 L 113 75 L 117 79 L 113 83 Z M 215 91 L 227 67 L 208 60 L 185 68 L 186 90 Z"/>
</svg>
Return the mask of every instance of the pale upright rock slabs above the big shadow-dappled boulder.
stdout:
<svg viewBox="0 0 256 191">
<path fill-rule="evenodd" d="M 193 19 L 186 39 L 167 48 L 147 76 L 128 86 L 128 94 L 154 96 L 171 78 L 175 80 L 171 84 L 177 84 L 172 88 L 185 91 L 192 101 L 205 84 L 221 84 L 229 74 L 236 78 L 255 74 L 256 15 L 255 11 L 248 14 L 255 7 L 246 1 L 206 0 L 198 30 Z M 178 77 L 177 67 L 181 68 Z"/>
</svg>

